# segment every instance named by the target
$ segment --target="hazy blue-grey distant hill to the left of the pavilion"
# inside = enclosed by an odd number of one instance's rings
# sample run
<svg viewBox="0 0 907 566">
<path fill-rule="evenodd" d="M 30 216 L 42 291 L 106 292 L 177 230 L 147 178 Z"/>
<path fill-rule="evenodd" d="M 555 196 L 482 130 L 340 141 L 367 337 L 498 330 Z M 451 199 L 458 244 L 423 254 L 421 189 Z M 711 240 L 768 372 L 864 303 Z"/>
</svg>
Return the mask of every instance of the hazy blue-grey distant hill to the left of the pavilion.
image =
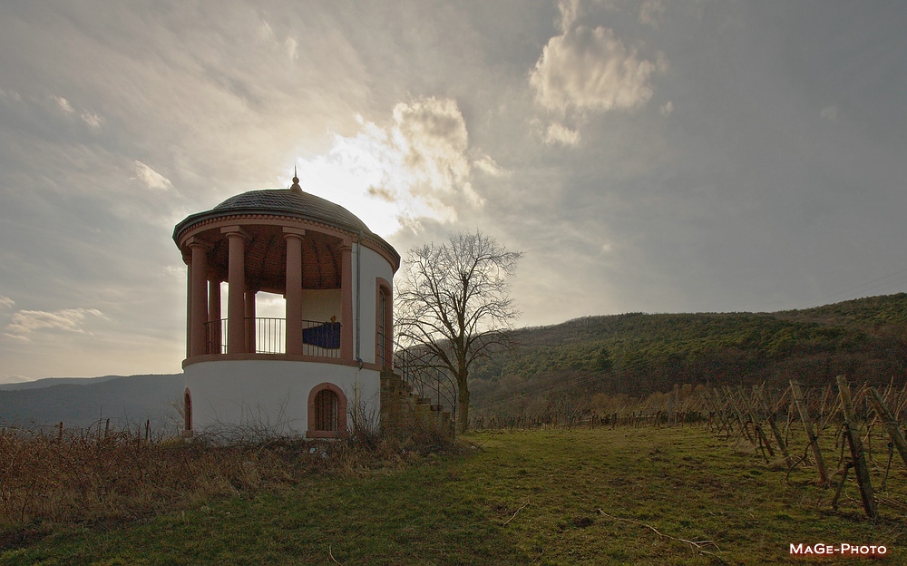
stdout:
<svg viewBox="0 0 907 566">
<path fill-rule="evenodd" d="M 171 404 L 182 400 L 183 376 L 41 379 L 7 384 L 3 389 L 0 390 L 0 424 L 3 425 L 42 426 L 62 422 L 67 428 L 80 428 L 110 418 L 111 424 L 118 426 L 150 420 L 151 426 L 160 430 L 179 419 Z"/>
</svg>

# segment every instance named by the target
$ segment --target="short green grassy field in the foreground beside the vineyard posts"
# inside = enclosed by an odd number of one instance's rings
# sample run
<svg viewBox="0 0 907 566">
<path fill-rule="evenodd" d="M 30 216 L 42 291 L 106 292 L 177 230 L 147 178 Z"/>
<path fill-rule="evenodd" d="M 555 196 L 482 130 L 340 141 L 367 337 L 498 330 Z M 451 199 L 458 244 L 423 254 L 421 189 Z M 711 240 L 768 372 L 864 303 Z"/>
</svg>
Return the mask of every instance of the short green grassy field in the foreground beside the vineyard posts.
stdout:
<svg viewBox="0 0 907 566">
<path fill-rule="evenodd" d="M 792 542 L 883 544 L 883 563 L 907 563 L 907 472 L 897 460 L 873 525 L 852 481 L 834 512 L 814 469 L 785 482 L 785 468 L 698 428 L 465 440 L 473 454 L 415 455 L 402 470 L 310 476 L 151 520 L 54 528 L 0 551 L 0 563 L 810 563 L 791 558 Z M 878 561 L 816 561 L 841 562 Z"/>
</svg>

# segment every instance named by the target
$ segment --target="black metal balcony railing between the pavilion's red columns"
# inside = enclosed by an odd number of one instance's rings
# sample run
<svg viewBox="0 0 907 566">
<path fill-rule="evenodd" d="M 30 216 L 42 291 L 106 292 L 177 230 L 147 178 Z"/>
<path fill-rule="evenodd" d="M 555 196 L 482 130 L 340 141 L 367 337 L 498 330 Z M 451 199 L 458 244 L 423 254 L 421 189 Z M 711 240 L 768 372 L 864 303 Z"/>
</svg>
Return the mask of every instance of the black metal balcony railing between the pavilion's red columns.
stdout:
<svg viewBox="0 0 907 566">
<path fill-rule="evenodd" d="M 256 354 L 287 353 L 287 320 L 276 317 L 246 318 L 246 336 L 255 337 Z M 227 318 L 205 324 L 209 354 L 227 354 Z M 252 350 L 253 348 L 247 348 Z M 340 357 L 340 323 L 302 321 L 303 356 Z"/>
</svg>

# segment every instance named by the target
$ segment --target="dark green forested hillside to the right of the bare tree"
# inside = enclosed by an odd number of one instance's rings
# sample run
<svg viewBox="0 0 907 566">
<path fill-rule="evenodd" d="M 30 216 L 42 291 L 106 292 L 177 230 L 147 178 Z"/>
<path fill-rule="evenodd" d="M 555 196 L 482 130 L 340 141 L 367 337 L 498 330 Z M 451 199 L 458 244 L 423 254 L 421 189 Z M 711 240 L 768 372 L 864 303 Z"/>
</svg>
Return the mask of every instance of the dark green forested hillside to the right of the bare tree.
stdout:
<svg viewBox="0 0 907 566">
<path fill-rule="evenodd" d="M 473 371 L 473 404 L 648 395 L 675 384 L 902 383 L 907 293 L 776 313 L 629 313 L 515 330 Z M 541 401 L 540 401 L 541 399 Z"/>
</svg>

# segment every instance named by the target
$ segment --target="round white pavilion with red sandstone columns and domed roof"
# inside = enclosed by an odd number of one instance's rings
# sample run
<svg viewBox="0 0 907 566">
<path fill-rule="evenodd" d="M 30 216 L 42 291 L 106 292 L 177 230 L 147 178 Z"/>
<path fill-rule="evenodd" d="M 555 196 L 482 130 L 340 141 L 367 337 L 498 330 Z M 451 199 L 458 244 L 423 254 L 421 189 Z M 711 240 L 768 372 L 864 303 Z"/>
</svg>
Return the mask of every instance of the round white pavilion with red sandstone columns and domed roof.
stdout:
<svg viewBox="0 0 907 566">
<path fill-rule="evenodd" d="M 247 425 L 330 438 L 354 409 L 377 424 L 393 247 L 296 177 L 190 215 L 173 240 L 189 266 L 184 435 Z M 258 317 L 258 292 L 283 296 L 286 316 Z"/>
</svg>

